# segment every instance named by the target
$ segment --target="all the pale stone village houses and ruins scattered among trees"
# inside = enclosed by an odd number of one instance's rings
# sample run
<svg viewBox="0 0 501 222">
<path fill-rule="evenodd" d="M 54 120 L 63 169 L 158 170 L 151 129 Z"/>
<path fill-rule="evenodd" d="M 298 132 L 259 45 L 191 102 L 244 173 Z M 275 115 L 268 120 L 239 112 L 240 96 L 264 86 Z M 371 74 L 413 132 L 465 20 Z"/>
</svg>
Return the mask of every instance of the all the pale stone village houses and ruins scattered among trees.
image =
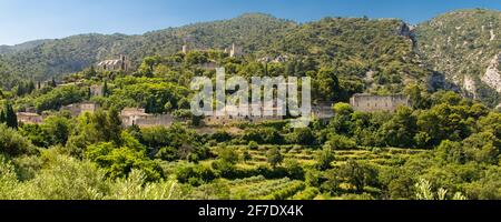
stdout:
<svg viewBox="0 0 501 222">
<path fill-rule="evenodd" d="M 193 49 L 188 44 L 183 46 L 181 52 L 184 54 L 187 54 L 191 51 L 197 51 L 196 49 Z M 242 47 L 233 43 L 230 48 L 224 49 L 224 53 L 228 54 L 229 58 L 237 58 L 243 57 L 243 49 Z M 288 60 L 288 56 L 278 56 L 276 58 L 271 57 L 264 57 L 261 59 L 257 59 L 257 62 L 262 63 L 282 63 L 286 62 Z M 126 56 L 120 56 L 119 59 L 116 60 L 106 60 L 98 62 L 96 64 L 96 70 L 101 72 L 121 72 L 126 74 L 131 74 L 132 70 L 130 68 L 131 62 L 127 59 Z M 215 62 L 205 62 L 199 65 L 202 69 L 210 70 L 216 69 L 217 64 Z M 63 82 L 57 84 L 59 87 L 65 85 L 78 85 L 89 89 L 89 95 L 90 98 L 94 97 L 104 97 L 105 95 L 105 89 L 102 83 L 96 83 L 91 84 L 89 87 L 86 87 L 79 81 L 75 82 Z M 89 99 L 90 99 L 89 98 Z M 395 112 L 399 107 L 410 107 L 409 98 L 401 94 L 395 95 L 372 95 L 372 94 L 354 94 L 350 100 L 351 105 L 356 111 L 362 112 Z M 249 109 L 254 109 L 254 107 L 258 107 L 257 109 L 265 109 L 262 104 L 250 104 Z M 89 112 L 94 113 L 97 110 L 100 109 L 100 104 L 97 102 L 81 102 L 81 103 L 72 103 L 65 105 L 60 109 L 60 111 L 68 111 L 71 117 L 78 118 L 80 114 Z M 265 121 L 276 121 L 276 120 L 283 120 L 284 117 L 278 115 L 277 108 L 273 109 L 273 113 L 275 113 L 273 117 L 252 117 L 252 115 L 233 115 L 232 113 L 235 113 L 232 110 L 237 110 L 237 107 L 226 107 L 224 108 L 225 115 L 223 117 L 206 117 L 204 118 L 205 125 L 228 125 L 234 123 L 240 123 L 240 122 L 249 122 L 249 123 L 258 123 L 258 122 L 265 122 Z M 325 119 L 328 120 L 333 117 L 333 104 L 323 103 L 321 105 L 314 105 L 312 108 L 312 117 L 313 119 Z M 20 123 L 29 123 L 29 124 L 39 124 L 43 122 L 43 119 L 47 118 L 46 114 L 39 114 L 33 111 L 33 108 L 28 108 L 24 112 L 17 112 L 18 121 Z M 120 118 L 124 123 L 124 127 L 131 127 L 131 125 L 138 125 L 138 127 L 170 127 L 176 121 L 185 121 L 185 120 L 176 120 L 171 114 L 164 113 L 164 114 L 154 114 L 154 113 L 147 113 L 144 108 L 124 108 L 120 112 Z"/>
</svg>

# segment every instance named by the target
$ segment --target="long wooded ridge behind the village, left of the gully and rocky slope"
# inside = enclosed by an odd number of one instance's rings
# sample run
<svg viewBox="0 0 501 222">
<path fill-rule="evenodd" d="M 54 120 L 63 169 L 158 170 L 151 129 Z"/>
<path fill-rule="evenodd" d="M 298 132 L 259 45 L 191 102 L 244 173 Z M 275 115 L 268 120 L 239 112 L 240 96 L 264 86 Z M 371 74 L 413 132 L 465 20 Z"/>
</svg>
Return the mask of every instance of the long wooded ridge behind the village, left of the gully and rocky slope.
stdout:
<svg viewBox="0 0 501 222">
<path fill-rule="evenodd" d="M 423 80 L 429 73 L 413 51 L 409 27 L 400 20 L 326 18 L 297 24 L 261 13 L 143 36 L 75 36 L 7 54 L 0 63 L 16 77 L 60 79 L 118 54 L 127 54 L 138 65 L 145 57 L 179 51 L 185 42 L 196 49 L 237 43 L 250 60 L 288 54 L 306 60 L 312 70 L 333 67 L 340 75 L 366 82 L 366 88 L 377 93 L 400 92 L 410 80 Z"/>
</svg>

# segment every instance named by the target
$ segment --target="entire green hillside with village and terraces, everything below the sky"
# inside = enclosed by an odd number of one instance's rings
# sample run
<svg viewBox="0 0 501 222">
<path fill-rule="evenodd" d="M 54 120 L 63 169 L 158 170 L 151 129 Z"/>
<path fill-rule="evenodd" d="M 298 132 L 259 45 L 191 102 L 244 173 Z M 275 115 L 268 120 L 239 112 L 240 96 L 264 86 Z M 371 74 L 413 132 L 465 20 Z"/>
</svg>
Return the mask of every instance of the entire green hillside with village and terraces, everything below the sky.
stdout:
<svg viewBox="0 0 501 222">
<path fill-rule="evenodd" d="M 0 199 L 501 200 L 499 14 L 244 14 L 35 42 L 0 57 Z M 311 78 L 310 124 L 278 101 L 194 115 L 191 80 L 216 68 Z"/>
</svg>

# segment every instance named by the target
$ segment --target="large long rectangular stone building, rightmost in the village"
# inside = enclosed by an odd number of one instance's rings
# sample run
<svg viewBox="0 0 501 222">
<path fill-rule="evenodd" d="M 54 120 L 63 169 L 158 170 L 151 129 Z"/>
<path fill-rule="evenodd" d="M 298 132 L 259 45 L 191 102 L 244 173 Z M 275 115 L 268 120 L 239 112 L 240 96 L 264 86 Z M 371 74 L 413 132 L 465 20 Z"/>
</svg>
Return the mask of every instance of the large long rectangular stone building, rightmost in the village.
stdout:
<svg viewBox="0 0 501 222">
<path fill-rule="evenodd" d="M 399 107 L 410 107 L 409 97 L 403 94 L 355 94 L 350 100 L 350 103 L 353 110 L 362 112 L 395 112 Z"/>
</svg>

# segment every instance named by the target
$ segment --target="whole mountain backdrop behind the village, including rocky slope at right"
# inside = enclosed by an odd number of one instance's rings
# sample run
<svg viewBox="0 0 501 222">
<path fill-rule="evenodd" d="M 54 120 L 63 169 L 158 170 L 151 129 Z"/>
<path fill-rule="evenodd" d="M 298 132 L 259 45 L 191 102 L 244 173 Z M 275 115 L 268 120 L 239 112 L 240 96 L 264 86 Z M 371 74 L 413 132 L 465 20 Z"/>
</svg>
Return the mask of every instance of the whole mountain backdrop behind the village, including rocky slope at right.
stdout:
<svg viewBox="0 0 501 222">
<path fill-rule="evenodd" d="M 501 102 L 500 26 L 500 12 L 489 10 L 446 13 L 414 31 L 395 19 L 325 18 L 298 24 L 247 13 L 141 36 L 80 34 L 2 47 L 0 65 L 2 84 L 9 88 L 19 77 L 61 79 L 119 54 L 137 67 L 145 57 L 175 53 L 186 42 L 196 49 L 237 43 L 248 59 L 288 54 L 313 61 L 315 69 L 334 67 L 344 78 L 363 80 L 365 91 L 374 93 L 400 92 L 410 81 L 423 83 L 433 70 L 445 77 L 446 87 L 495 105 Z"/>
</svg>

